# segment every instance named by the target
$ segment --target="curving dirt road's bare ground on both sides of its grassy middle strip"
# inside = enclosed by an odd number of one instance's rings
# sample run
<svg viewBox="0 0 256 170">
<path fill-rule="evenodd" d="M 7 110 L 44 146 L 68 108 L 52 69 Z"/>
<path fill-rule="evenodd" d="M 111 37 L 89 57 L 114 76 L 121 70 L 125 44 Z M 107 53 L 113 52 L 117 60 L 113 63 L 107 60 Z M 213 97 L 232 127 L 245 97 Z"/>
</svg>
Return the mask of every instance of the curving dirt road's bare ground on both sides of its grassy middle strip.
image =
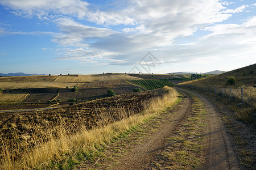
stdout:
<svg viewBox="0 0 256 170">
<path fill-rule="evenodd" d="M 241 169 L 234 154 L 234 148 L 231 147 L 225 133 L 224 124 L 210 101 L 194 92 L 180 88 L 177 90 L 188 97 L 184 97 L 174 110 L 168 111 L 164 114 L 165 116 L 157 118 L 151 124 L 143 125 L 141 132 L 131 133 L 125 140 L 110 145 L 104 151 L 104 156 L 98 158 L 95 164 L 85 162 L 78 169 L 177 169 L 172 167 L 170 160 L 161 159 L 163 153 L 168 155 L 168 152 L 179 150 L 179 148 L 170 149 L 173 146 L 170 139 L 177 131 L 184 129 L 183 125 L 187 124 L 189 117 L 193 117 L 195 101 L 192 96 L 201 100 L 205 111 L 203 119 L 205 125 L 200 135 L 204 138 L 203 147 L 197 148 L 201 150 L 198 152 L 202 153 L 199 160 L 200 167 L 193 169 Z M 139 135 L 144 132 L 143 129 L 152 127 L 155 128 L 143 137 Z M 115 152 L 118 154 L 113 155 L 115 150 L 118 150 Z M 123 150 L 126 152 L 122 152 Z"/>
</svg>

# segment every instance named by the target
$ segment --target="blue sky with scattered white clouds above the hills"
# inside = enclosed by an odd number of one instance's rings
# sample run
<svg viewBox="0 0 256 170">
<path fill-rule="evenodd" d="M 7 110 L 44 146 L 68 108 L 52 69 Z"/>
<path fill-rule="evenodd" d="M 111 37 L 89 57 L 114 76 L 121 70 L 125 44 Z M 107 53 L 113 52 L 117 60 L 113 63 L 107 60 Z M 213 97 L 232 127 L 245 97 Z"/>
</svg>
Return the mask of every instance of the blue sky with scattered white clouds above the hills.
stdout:
<svg viewBox="0 0 256 170">
<path fill-rule="evenodd" d="M 0 0 L 0 73 L 205 73 L 254 63 L 255 0 Z"/>
</svg>

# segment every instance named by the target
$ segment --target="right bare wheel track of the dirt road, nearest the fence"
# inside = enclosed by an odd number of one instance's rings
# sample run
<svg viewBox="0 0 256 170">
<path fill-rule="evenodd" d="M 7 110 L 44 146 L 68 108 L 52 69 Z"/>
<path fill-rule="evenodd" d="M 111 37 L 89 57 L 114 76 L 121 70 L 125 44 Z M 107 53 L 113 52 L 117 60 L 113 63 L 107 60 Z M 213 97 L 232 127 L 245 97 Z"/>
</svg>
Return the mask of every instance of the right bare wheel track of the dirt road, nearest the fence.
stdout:
<svg viewBox="0 0 256 170">
<path fill-rule="evenodd" d="M 206 163 L 202 169 L 240 169 L 234 148 L 226 135 L 224 123 L 222 122 L 216 108 L 205 97 L 188 90 L 177 88 L 179 91 L 190 92 L 203 101 L 207 112 L 207 126 L 204 136 L 206 142 L 204 146 Z"/>
</svg>

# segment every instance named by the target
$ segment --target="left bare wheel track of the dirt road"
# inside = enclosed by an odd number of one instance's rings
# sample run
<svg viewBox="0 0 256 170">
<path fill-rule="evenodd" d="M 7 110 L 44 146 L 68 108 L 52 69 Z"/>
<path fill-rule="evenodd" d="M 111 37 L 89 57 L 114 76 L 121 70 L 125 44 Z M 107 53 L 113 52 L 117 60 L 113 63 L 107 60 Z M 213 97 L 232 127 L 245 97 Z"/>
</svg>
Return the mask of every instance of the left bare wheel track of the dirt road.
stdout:
<svg viewBox="0 0 256 170">
<path fill-rule="evenodd" d="M 141 145 L 134 146 L 133 150 L 119 158 L 113 169 L 151 169 L 153 161 L 168 144 L 166 138 L 171 137 L 188 117 L 191 105 L 191 97 L 184 98 L 182 108 L 177 109 L 158 131 L 151 134 L 151 139 L 144 139 Z"/>
</svg>

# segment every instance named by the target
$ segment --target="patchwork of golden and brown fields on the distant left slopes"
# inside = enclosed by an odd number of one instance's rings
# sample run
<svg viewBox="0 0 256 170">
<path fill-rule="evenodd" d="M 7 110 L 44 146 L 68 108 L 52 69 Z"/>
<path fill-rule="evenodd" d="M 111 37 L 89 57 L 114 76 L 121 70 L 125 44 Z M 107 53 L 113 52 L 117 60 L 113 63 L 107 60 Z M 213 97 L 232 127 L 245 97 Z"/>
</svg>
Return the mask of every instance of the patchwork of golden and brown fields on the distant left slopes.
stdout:
<svg viewBox="0 0 256 170">
<path fill-rule="evenodd" d="M 134 79 L 133 76 L 127 74 L 1 77 L 0 88 L 3 89 L 3 93 L 1 94 L 0 103 L 41 103 L 43 107 L 43 104 L 47 103 L 48 100 L 56 99 L 65 102 L 73 98 L 77 100 L 99 99 L 107 97 L 109 89 L 114 90 L 119 95 L 131 93 L 134 88 L 138 88 L 135 84 L 126 83 L 124 78 Z M 44 79 L 43 82 L 42 79 Z M 58 79 L 59 82 L 56 82 Z M 23 82 L 13 82 L 15 80 L 23 80 Z M 94 82 L 89 82 L 93 80 Z M 73 86 L 78 86 L 79 91 L 72 92 Z M 10 108 L 6 106 L 4 108 L 13 109 L 11 105 Z M 38 108 L 38 105 L 36 105 L 36 108 Z"/>
</svg>

